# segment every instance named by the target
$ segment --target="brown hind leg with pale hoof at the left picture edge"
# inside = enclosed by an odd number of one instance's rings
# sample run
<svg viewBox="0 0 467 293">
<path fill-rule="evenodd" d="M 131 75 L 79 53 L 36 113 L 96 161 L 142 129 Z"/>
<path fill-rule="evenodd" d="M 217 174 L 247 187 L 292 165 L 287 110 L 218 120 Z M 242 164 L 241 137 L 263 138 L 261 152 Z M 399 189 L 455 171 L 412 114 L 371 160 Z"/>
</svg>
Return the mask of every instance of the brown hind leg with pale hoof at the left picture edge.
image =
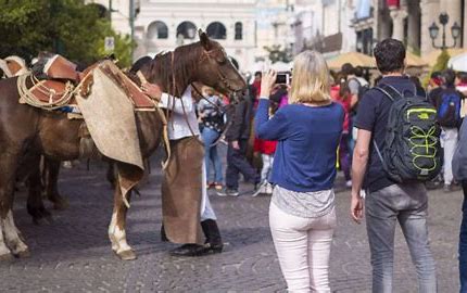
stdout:
<svg viewBox="0 0 467 293">
<path fill-rule="evenodd" d="M 0 259 L 11 258 L 11 254 L 18 257 L 29 255 L 13 220 L 13 191 L 18 157 L 20 151 L 14 148 L 0 157 Z"/>
</svg>

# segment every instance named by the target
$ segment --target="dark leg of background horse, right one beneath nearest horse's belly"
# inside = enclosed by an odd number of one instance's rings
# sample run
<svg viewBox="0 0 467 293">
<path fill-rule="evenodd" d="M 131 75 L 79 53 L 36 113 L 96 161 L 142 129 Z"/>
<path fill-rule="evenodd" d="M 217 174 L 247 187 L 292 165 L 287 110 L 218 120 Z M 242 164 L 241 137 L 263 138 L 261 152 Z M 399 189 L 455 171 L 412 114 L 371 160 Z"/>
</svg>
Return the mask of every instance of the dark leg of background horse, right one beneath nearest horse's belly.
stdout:
<svg viewBox="0 0 467 293">
<path fill-rule="evenodd" d="M 47 199 L 53 203 L 53 208 L 63 211 L 68 208 L 70 203 L 59 193 L 60 163 L 60 161 L 47 157 L 43 160 L 43 182 Z"/>
</svg>

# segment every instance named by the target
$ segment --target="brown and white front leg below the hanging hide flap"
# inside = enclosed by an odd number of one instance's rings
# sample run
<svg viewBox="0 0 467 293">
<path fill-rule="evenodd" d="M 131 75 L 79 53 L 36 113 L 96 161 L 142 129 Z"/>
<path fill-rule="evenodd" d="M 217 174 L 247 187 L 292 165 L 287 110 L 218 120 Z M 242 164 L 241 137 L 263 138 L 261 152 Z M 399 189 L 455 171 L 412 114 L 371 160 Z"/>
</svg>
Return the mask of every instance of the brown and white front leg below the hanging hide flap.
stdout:
<svg viewBox="0 0 467 293">
<path fill-rule="evenodd" d="M 116 180 L 114 193 L 114 209 L 112 214 L 112 220 L 109 226 L 109 238 L 111 240 L 112 250 L 114 251 L 114 253 L 118 255 L 118 257 L 123 260 L 131 260 L 136 259 L 136 254 L 126 241 L 126 213 L 127 207 L 123 202 L 119 182 L 118 180 Z"/>
</svg>

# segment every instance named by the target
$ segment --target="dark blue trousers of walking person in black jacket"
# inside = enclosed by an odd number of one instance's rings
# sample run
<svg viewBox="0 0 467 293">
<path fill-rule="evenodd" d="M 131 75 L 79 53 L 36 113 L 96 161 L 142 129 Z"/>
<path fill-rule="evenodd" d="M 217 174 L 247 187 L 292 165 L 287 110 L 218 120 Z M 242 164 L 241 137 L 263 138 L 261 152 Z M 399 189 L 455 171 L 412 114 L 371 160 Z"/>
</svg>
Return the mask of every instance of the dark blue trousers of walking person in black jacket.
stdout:
<svg viewBox="0 0 467 293">
<path fill-rule="evenodd" d="M 231 142 L 229 142 L 227 148 L 226 187 L 235 190 L 238 189 L 240 173 L 250 182 L 256 183 L 260 179 L 256 170 L 245 157 L 248 140 L 241 139 L 238 143 L 240 150 L 234 149 Z"/>
</svg>

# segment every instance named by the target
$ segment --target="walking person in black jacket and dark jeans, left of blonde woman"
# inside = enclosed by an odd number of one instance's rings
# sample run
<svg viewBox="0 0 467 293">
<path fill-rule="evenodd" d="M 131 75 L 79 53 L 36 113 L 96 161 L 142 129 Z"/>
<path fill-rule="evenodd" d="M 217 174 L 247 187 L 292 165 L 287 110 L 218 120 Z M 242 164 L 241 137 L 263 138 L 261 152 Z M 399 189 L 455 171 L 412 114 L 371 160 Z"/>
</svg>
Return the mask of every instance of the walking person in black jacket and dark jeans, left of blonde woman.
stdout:
<svg viewBox="0 0 467 293">
<path fill-rule="evenodd" d="M 260 181 L 256 169 L 245 158 L 252 120 L 251 100 L 249 94 L 239 94 L 238 97 L 232 97 L 232 100 L 237 100 L 237 102 L 227 111 L 229 126 L 225 135 L 228 143 L 226 186 L 217 192 L 219 196 L 239 195 L 238 181 L 240 173 L 255 186 Z"/>
</svg>

